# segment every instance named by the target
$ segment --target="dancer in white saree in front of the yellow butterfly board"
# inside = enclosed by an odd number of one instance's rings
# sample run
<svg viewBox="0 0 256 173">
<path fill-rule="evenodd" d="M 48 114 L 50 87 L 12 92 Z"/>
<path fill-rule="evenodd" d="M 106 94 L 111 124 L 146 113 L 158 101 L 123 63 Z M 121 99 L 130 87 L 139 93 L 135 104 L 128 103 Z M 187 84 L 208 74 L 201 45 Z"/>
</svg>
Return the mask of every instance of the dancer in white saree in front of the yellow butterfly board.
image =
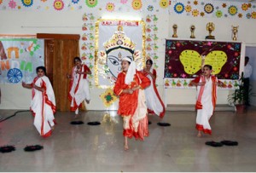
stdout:
<svg viewBox="0 0 256 173">
<path fill-rule="evenodd" d="M 190 82 L 190 85 L 197 87 L 197 101 L 195 109 L 197 109 L 196 126 L 198 137 L 201 137 L 201 131 L 212 135 L 212 129 L 209 123 L 214 111 L 217 100 L 217 85 L 223 86 L 218 78 L 211 75 L 212 66 L 205 65 L 203 67 L 203 75 L 195 78 Z"/>
</svg>

